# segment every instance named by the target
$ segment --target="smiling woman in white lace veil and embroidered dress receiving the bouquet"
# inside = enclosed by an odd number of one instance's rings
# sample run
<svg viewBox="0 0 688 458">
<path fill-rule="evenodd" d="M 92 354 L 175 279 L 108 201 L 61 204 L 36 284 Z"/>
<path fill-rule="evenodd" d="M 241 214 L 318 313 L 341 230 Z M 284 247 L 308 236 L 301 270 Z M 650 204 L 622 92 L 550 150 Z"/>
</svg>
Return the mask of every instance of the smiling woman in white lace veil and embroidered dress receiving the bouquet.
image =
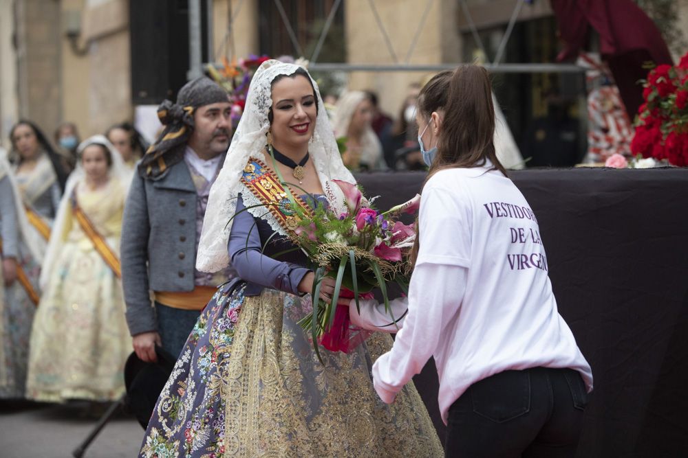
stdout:
<svg viewBox="0 0 688 458">
<path fill-rule="evenodd" d="M 259 67 L 227 158 L 211 190 L 197 267 L 217 271 L 231 261 L 241 279 L 218 290 L 191 332 L 141 455 L 441 456 L 412 385 L 389 407 L 373 389 L 370 369 L 391 347 L 389 336 L 373 334 L 347 354 L 321 350 L 322 364 L 297 324 L 312 310 L 314 274 L 299 251 L 279 255 L 294 245 L 289 212 L 275 206 L 286 195 L 277 173 L 294 183 L 302 205 L 314 205 L 308 192 L 336 211 L 345 204 L 332 180 L 354 182 L 305 70 L 276 60 Z M 279 236 L 268 240 L 274 231 Z M 323 284 L 321 297 L 330 299 L 333 284 Z"/>
</svg>

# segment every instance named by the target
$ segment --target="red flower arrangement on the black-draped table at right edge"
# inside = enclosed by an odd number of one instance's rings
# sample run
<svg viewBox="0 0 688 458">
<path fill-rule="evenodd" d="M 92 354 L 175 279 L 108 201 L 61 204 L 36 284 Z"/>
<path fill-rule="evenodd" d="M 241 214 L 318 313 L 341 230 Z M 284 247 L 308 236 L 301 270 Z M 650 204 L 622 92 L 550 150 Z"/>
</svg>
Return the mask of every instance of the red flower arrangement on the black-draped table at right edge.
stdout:
<svg viewBox="0 0 688 458">
<path fill-rule="evenodd" d="M 633 154 L 688 165 L 688 53 L 676 67 L 659 65 L 643 84 Z"/>
</svg>

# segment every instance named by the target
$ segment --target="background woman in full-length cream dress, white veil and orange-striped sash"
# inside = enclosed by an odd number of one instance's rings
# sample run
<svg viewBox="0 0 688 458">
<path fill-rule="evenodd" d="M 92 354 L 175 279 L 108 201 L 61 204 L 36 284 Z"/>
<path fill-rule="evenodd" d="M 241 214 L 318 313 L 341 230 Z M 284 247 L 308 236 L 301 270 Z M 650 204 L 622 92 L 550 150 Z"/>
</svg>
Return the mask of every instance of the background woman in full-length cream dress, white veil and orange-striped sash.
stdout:
<svg viewBox="0 0 688 458">
<path fill-rule="evenodd" d="M 122 176 L 120 155 L 105 137 L 80 144 L 41 273 L 28 398 L 107 401 L 124 392 L 131 337 L 118 259 L 127 194 Z"/>
</svg>

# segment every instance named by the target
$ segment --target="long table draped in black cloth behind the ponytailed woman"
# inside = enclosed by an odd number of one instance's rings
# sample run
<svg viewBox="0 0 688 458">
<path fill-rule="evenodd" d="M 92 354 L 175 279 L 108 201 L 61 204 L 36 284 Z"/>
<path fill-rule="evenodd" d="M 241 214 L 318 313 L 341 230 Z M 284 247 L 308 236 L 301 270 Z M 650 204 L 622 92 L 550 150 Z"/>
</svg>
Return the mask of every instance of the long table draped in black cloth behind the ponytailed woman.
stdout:
<svg viewBox="0 0 688 458">
<path fill-rule="evenodd" d="M 688 457 L 688 169 L 521 170 L 559 313 L 592 366 L 577 457 Z M 423 172 L 358 174 L 379 209 Z M 414 379 L 444 438 L 437 375 Z"/>
</svg>

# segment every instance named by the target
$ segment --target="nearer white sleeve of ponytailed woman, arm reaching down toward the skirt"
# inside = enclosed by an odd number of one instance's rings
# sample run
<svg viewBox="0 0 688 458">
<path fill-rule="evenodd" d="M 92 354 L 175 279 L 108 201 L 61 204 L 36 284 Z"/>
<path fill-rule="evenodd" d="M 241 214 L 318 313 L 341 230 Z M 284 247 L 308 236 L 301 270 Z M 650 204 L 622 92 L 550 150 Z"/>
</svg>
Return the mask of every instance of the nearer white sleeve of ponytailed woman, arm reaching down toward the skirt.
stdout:
<svg viewBox="0 0 688 458">
<path fill-rule="evenodd" d="M 409 285 L 409 312 L 392 349 L 373 365 L 380 398 L 396 393 L 418 374 L 447 339 L 466 294 L 471 259 L 470 238 L 457 237 L 468 227 L 465 210 L 443 189 L 424 190 L 420 202 L 420 249 Z M 441 374 L 440 374 L 441 375 Z"/>
</svg>

